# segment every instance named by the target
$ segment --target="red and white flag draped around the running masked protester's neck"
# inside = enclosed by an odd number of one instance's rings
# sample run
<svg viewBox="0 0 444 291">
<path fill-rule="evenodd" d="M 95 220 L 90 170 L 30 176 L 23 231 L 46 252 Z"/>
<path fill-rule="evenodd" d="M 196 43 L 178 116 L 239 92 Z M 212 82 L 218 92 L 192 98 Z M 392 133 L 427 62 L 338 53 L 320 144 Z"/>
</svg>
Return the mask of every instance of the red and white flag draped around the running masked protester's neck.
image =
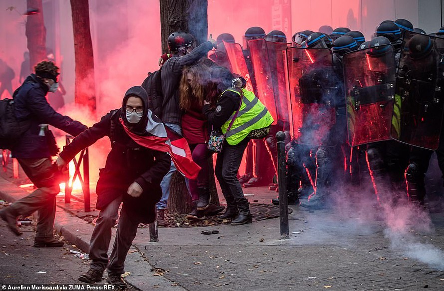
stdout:
<svg viewBox="0 0 444 291">
<path fill-rule="evenodd" d="M 151 134 L 150 136 L 140 136 L 132 133 L 125 126 L 122 118 L 120 118 L 120 123 L 135 143 L 148 149 L 169 153 L 176 169 L 182 175 L 188 179 L 196 179 L 201 167 L 193 162 L 190 147 L 185 138 L 168 129 L 163 123 L 154 121 L 151 114 L 151 111 L 149 111 L 146 127 L 147 132 Z"/>
</svg>

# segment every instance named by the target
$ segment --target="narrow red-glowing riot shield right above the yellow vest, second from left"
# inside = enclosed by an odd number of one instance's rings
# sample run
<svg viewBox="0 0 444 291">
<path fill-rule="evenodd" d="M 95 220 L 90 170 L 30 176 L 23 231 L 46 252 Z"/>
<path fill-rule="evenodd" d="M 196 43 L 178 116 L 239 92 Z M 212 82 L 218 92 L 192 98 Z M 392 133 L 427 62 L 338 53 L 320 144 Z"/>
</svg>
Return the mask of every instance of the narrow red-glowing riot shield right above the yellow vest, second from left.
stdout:
<svg viewBox="0 0 444 291">
<path fill-rule="evenodd" d="M 268 58 L 267 42 L 264 39 L 248 41 L 254 77 L 256 78 L 257 97 L 267 107 L 274 119 L 273 125 L 277 124 L 277 106 L 274 94 L 274 84 L 270 60 Z"/>
</svg>

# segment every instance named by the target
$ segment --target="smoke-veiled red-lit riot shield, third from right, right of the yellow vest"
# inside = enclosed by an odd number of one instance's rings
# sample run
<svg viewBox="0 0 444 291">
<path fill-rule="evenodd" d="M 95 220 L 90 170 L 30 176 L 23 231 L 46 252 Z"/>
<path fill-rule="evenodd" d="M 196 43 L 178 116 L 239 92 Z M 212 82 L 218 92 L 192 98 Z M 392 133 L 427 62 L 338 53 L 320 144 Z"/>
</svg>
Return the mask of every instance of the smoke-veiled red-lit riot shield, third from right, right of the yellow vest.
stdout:
<svg viewBox="0 0 444 291">
<path fill-rule="evenodd" d="M 329 49 L 286 50 L 290 135 L 301 144 L 333 146 L 335 106 L 342 87 L 333 74 Z"/>
</svg>

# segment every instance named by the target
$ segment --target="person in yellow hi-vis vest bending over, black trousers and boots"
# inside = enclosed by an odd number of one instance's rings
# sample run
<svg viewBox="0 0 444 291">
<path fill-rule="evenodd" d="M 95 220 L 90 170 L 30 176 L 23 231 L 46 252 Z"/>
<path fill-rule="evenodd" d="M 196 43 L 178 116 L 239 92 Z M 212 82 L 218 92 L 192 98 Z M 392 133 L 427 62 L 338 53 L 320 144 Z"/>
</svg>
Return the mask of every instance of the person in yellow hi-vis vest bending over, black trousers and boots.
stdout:
<svg viewBox="0 0 444 291">
<path fill-rule="evenodd" d="M 219 181 L 227 208 L 221 219 L 232 219 L 231 225 L 251 223 L 248 200 L 244 197 L 237 178 L 243 152 L 251 138 L 264 138 L 273 123 L 273 117 L 253 92 L 245 89 L 242 77 L 232 80 L 212 106 L 204 101 L 203 113 L 213 130 L 225 135 L 218 153 L 215 175 Z"/>
</svg>

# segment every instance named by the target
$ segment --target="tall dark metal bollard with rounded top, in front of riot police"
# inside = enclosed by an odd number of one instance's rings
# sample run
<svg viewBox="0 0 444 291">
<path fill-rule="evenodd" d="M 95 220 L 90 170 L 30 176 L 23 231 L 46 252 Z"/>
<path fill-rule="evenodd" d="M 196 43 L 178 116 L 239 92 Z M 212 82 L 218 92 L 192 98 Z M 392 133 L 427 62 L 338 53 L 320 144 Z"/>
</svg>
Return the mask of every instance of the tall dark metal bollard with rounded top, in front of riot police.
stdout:
<svg viewBox="0 0 444 291">
<path fill-rule="evenodd" d="M 288 230 L 288 197 L 286 168 L 287 161 L 285 156 L 285 133 L 279 131 L 276 133 L 277 139 L 277 164 L 278 164 L 278 182 L 279 182 L 279 222 L 280 222 L 280 239 L 289 239 Z"/>
</svg>

